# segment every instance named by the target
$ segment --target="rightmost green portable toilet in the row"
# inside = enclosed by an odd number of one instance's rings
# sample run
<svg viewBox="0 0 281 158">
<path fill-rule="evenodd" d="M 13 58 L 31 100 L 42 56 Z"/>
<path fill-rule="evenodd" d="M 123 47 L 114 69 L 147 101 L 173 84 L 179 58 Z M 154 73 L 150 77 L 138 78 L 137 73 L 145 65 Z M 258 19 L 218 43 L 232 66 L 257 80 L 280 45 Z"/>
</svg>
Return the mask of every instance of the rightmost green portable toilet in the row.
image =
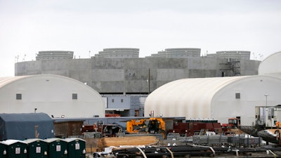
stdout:
<svg viewBox="0 0 281 158">
<path fill-rule="evenodd" d="M 86 141 L 80 138 L 65 138 L 68 158 L 86 157 Z"/>
</svg>

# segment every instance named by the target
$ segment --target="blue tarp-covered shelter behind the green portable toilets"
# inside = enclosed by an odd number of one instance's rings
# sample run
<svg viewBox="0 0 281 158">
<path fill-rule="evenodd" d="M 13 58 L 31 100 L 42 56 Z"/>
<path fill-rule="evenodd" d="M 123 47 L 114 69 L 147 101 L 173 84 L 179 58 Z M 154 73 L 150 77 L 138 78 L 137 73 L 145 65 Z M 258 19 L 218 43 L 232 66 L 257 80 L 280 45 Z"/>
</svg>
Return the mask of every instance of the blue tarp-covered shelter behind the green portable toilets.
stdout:
<svg viewBox="0 0 281 158">
<path fill-rule="evenodd" d="M 0 140 L 54 137 L 53 120 L 48 114 L 0 114 Z"/>
</svg>

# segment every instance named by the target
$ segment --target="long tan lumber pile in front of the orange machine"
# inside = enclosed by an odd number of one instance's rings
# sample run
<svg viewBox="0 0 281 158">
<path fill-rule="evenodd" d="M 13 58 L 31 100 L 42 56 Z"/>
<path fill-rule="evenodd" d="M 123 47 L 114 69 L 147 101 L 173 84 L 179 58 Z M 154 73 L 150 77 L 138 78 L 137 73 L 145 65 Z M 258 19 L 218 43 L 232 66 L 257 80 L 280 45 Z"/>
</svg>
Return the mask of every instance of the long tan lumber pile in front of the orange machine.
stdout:
<svg viewBox="0 0 281 158">
<path fill-rule="evenodd" d="M 158 143 L 156 136 L 130 136 L 130 137 L 105 137 L 100 138 L 98 147 L 110 147 L 119 145 L 152 145 Z"/>
</svg>

